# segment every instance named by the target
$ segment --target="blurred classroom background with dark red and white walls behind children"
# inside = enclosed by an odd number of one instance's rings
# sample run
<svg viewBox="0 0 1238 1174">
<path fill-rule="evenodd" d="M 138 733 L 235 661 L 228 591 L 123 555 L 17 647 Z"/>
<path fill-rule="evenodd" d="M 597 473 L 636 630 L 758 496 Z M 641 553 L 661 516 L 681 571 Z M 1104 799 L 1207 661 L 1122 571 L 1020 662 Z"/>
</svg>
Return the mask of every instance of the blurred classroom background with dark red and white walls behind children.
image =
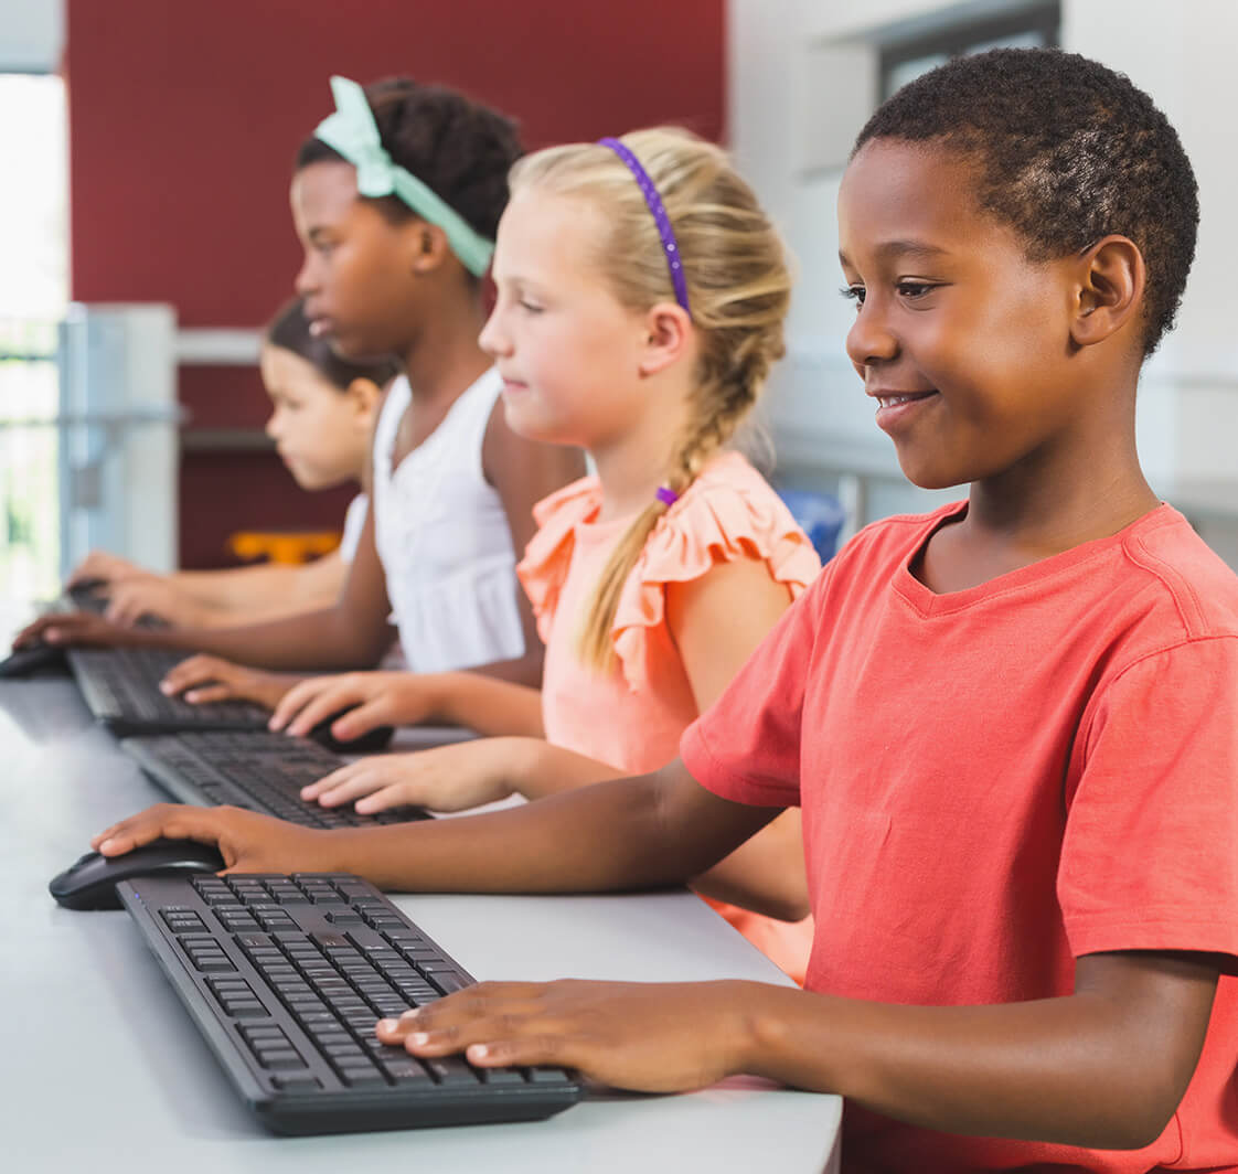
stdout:
<svg viewBox="0 0 1238 1174">
<path fill-rule="evenodd" d="M 909 487 L 872 424 L 833 206 L 881 98 L 993 45 L 1122 69 L 1182 135 L 1200 250 L 1145 372 L 1140 450 L 1238 566 L 1234 43 L 1238 6 L 1208 0 L 0 0 L 0 601 L 53 596 L 93 547 L 213 567 L 239 533 L 338 524 L 350 492 L 296 488 L 256 370 L 300 261 L 292 156 L 332 73 L 463 89 L 531 147 L 656 123 L 727 144 L 797 259 L 765 411 L 775 482 L 842 536 L 961 495 Z"/>
</svg>

